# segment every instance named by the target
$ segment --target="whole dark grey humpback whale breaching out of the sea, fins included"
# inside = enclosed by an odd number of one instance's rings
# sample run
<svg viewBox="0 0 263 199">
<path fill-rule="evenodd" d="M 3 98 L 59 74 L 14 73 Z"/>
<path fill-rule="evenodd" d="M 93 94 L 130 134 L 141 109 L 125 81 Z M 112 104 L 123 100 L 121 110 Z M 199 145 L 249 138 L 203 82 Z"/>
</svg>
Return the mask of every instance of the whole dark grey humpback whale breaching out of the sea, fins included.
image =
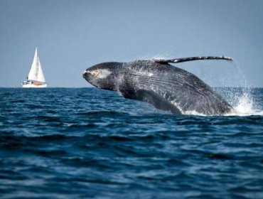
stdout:
<svg viewBox="0 0 263 199">
<path fill-rule="evenodd" d="M 119 92 L 124 98 L 153 104 L 172 114 L 225 114 L 232 106 L 212 87 L 173 63 L 194 60 L 232 60 L 226 56 L 134 60 L 99 63 L 82 77 L 102 90 Z"/>
</svg>

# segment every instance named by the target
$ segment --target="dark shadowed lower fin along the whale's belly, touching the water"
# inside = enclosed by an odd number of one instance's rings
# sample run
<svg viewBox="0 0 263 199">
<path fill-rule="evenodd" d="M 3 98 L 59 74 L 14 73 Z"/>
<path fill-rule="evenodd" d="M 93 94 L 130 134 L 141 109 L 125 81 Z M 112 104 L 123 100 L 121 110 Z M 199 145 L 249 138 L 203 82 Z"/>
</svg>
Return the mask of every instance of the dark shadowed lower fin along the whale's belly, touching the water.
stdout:
<svg viewBox="0 0 263 199">
<path fill-rule="evenodd" d="M 156 109 L 162 109 L 165 111 L 171 111 L 173 114 L 182 114 L 180 110 L 171 102 L 168 102 L 163 97 L 157 95 L 151 90 L 136 90 L 133 92 L 122 92 L 122 96 L 127 99 L 136 99 L 139 101 L 148 102 L 153 104 Z"/>
</svg>

